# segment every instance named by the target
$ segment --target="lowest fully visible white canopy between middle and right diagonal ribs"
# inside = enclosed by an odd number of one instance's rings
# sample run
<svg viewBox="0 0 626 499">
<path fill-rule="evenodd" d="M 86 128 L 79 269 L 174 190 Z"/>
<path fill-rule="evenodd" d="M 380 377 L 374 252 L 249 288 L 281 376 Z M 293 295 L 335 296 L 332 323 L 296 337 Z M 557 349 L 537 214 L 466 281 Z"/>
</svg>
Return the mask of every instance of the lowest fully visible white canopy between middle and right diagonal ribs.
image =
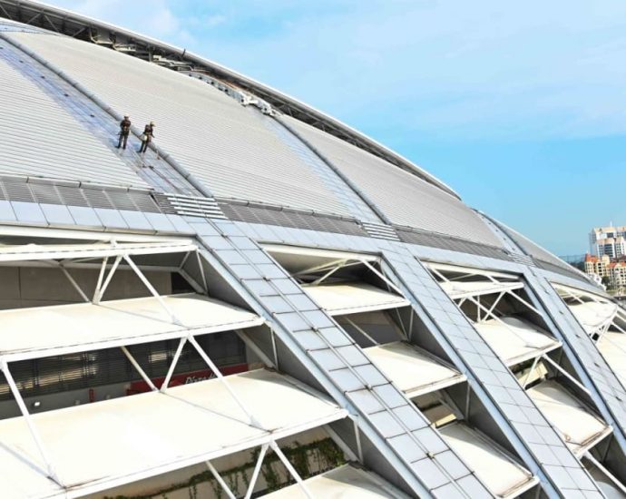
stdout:
<svg viewBox="0 0 626 499">
<path fill-rule="evenodd" d="M 611 426 L 555 381 L 543 381 L 527 393 L 576 455 L 611 433 Z"/>
</svg>

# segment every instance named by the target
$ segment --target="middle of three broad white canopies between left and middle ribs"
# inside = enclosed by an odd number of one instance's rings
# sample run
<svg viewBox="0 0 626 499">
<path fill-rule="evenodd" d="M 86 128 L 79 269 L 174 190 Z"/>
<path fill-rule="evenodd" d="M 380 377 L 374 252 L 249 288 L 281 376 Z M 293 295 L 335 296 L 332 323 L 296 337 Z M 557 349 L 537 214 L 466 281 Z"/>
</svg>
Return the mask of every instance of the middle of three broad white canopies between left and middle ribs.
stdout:
<svg viewBox="0 0 626 499">
<path fill-rule="evenodd" d="M 409 398 L 455 385 L 465 376 L 404 341 L 365 349 L 374 362 Z"/>
</svg>

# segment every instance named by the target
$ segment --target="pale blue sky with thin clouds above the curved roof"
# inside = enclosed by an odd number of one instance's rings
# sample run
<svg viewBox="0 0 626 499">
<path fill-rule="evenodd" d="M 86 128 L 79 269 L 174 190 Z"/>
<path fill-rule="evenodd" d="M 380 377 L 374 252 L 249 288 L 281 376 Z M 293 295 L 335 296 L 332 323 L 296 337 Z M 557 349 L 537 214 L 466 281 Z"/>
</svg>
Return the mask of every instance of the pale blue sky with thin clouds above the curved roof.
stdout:
<svg viewBox="0 0 626 499">
<path fill-rule="evenodd" d="M 279 88 L 559 255 L 626 224 L 623 0 L 49 0 Z"/>
</svg>

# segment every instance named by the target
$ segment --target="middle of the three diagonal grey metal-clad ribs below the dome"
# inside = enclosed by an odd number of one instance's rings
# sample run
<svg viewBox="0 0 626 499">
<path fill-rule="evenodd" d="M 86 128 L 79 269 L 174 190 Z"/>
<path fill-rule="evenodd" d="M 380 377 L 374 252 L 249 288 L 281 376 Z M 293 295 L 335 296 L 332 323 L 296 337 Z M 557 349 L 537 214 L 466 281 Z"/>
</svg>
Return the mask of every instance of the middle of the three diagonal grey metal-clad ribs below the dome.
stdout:
<svg viewBox="0 0 626 499">
<path fill-rule="evenodd" d="M 491 415 L 518 454 L 527 456 L 523 457 L 525 465 L 537 475 L 539 465 L 544 480 L 550 480 L 565 496 L 597 495 L 597 485 L 583 473 L 581 463 L 523 391 L 513 373 L 422 263 L 410 254 L 409 249 L 398 244 L 389 244 L 383 254 L 396 276 L 401 276 L 403 282 L 397 284 L 410 291 L 416 304 L 419 304 L 414 307 L 416 312 L 422 316 L 425 314 L 437 326 L 445 338 L 442 346 L 447 343 L 452 347 L 449 354 L 453 360 L 457 357 L 456 366 L 463 367 L 462 372 L 483 404 L 492 406 Z M 408 293 L 406 296 L 412 299 Z M 574 476 L 581 474 L 577 482 Z"/>
</svg>

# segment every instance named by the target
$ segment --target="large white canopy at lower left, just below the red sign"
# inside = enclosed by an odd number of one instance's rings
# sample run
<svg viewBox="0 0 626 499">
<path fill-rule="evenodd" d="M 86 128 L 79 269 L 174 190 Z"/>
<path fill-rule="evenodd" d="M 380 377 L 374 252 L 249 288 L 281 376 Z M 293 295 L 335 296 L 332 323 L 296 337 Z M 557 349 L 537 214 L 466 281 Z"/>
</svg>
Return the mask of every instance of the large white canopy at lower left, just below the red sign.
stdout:
<svg viewBox="0 0 626 499">
<path fill-rule="evenodd" d="M 93 494 L 161 475 L 269 439 L 322 426 L 347 416 L 328 398 L 293 378 L 259 369 L 227 378 L 261 427 L 249 418 L 220 380 L 177 386 L 165 393 L 126 396 L 33 416 L 68 497 Z M 269 404 L 268 401 L 271 401 Z M 23 417 L 0 421 L 3 497 L 23 497 L 13 484 L 44 487 L 44 463 Z M 10 470 L 11 473 L 7 473 Z M 15 493 L 14 493 L 15 491 Z"/>
</svg>

